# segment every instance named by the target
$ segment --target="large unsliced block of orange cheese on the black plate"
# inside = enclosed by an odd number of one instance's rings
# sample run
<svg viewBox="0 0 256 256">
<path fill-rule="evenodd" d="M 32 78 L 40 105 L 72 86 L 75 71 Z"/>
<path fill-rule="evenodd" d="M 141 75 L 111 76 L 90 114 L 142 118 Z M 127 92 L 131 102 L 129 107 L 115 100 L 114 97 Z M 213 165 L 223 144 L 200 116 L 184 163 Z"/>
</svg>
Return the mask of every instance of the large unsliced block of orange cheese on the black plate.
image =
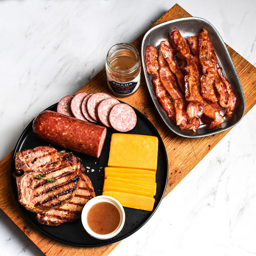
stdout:
<svg viewBox="0 0 256 256">
<path fill-rule="evenodd" d="M 108 166 L 156 171 L 158 138 L 155 136 L 113 133 Z"/>
</svg>

